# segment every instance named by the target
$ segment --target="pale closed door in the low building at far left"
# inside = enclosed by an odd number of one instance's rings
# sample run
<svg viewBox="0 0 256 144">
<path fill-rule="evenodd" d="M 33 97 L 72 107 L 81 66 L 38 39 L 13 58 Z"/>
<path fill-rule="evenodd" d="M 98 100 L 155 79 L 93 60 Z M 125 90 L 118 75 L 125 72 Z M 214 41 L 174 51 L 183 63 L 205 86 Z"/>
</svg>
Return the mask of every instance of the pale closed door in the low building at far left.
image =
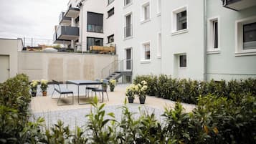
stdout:
<svg viewBox="0 0 256 144">
<path fill-rule="evenodd" d="M 9 56 L 0 55 L 0 83 L 9 79 Z"/>
</svg>

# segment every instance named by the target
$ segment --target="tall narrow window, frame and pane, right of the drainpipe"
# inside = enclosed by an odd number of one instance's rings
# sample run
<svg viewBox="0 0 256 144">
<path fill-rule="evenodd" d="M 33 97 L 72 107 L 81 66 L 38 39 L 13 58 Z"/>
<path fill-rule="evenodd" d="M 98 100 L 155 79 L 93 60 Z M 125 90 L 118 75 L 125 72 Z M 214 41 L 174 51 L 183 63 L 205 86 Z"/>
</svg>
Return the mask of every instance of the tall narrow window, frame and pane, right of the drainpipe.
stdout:
<svg viewBox="0 0 256 144">
<path fill-rule="evenodd" d="M 211 18 L 208 20 L 208 49 L 207 51 L 219 50 L 219 18 Z"/>
</svg>

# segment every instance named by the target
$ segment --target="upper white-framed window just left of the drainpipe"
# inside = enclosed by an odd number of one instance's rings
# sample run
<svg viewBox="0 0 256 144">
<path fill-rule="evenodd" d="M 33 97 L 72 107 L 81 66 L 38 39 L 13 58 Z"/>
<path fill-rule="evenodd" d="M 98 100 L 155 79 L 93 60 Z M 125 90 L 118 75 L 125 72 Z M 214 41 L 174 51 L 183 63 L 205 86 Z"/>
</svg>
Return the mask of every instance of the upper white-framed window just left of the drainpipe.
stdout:
<svg viewBox="0 0 256 144">
<path fill-rule="evenodd" d="M 172 16 L 172 32 L 179 32 L 187 29 L 186 6 L 173 11 Z"/>
</svg>

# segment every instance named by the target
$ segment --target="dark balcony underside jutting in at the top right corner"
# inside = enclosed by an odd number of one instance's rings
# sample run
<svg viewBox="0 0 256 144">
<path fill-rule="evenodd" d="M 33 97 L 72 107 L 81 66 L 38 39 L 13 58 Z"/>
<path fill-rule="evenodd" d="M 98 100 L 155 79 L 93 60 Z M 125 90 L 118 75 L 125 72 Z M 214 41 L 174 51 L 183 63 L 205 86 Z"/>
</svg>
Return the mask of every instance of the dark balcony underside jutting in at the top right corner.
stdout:
<svg viewBox="0 0 256 144">
<path fill-rule="evenodd" d="M 255 0 L 222 0 L 223 6 L 228 9 L 240 11 L 256 5 Z"/>
</svg>

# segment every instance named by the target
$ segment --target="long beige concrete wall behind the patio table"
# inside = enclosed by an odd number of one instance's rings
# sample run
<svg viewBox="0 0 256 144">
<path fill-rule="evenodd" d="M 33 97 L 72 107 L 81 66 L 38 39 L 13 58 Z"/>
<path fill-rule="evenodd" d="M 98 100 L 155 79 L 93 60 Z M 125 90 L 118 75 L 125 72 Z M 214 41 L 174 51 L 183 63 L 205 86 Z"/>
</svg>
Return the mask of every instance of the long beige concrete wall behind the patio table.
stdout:
<svg viewBox="0 0 256 144">
<path fill-rule="evenodd" d="M 114 59 L 107 54 L 19 52 L 19 73 L 29 80 L 95 80 Z"/>
</svg>

